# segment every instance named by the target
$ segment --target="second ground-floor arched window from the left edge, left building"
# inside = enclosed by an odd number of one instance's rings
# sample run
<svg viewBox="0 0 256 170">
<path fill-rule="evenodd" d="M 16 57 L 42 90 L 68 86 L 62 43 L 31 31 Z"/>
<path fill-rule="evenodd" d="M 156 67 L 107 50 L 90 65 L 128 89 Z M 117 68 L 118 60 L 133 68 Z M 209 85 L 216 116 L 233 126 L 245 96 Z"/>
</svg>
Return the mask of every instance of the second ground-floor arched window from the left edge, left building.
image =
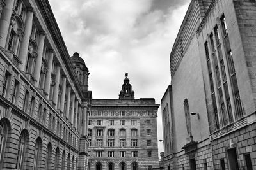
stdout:
<svg viewBox="0 0 256 170">
<path fill-rule="evenodd" d="M 28 132 L 23 130 L 20 134 L 20 139 L 19 139 L 16 169 L 22 169 L 22 167 L 24 166 L 24 155 L 26 152 L 27 139 L 28 139 Z"/>
</svg>

